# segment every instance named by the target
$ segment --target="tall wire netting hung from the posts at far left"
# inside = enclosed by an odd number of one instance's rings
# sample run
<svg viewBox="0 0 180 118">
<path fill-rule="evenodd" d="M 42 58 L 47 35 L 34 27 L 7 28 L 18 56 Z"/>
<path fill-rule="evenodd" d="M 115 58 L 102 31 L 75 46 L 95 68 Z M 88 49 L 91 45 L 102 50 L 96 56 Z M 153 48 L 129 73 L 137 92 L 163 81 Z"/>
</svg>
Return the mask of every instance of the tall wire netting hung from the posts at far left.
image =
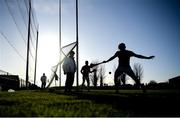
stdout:
<svg viewBox="0 0 180 118">
<path fill-rule="evenodd" d="M 29 10 L 31 10 L 30 15 Z M 27 51 L 28 27 L 30 27 L 29 51 Z M 25 80 L 27 53 L 29 53 L 28 80 L 33 83 L 37 32 L 38 21 L 33 0 L 0 0 L 0 70 L 2 72 L 19 75 Z"/>
</svg>

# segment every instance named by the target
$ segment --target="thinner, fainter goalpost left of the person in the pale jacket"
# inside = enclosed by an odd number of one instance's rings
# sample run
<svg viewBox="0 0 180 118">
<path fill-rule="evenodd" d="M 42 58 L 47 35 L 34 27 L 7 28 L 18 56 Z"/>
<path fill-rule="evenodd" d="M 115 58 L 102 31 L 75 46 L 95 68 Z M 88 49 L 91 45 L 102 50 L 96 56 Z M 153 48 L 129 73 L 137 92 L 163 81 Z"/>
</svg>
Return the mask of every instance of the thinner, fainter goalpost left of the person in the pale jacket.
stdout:
<svg viewBox="0 0 180 118">
<path fill-rule="evenodd" d="M 61 0 L 59 0 L 59 59 L 61 61 Z M 59 64 L 59 86 L 61 86 L 61 64 Z"/>
</svg>

